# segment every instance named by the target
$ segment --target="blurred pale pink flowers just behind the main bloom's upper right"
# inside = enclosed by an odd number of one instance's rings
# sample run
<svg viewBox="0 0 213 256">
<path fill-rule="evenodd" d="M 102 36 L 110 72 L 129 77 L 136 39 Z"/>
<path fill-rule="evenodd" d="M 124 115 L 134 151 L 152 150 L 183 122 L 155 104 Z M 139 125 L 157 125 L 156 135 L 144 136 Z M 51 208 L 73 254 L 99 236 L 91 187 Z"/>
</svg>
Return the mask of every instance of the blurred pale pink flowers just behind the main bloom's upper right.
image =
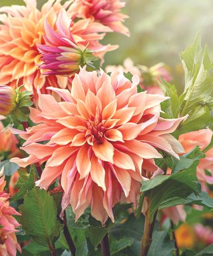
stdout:
<svg viewBox="0 0 213 256">
<path fill-rule="evenodd" d="M 164 63 L 158 63 L 152 67 L 146 67 L 144 65 L 134 65 L 130 58 L 125 59 L 123 65 L 108 65 L 105 70 L 107 73 L 119 70 L 125 73 L 129 72 L 132 75 L 138 75 L 138 77 L 140 77 L 140 87 L 142 89 L 146 89 L 148 93 L 152 94 L 163 95 L 162 90 L 158 85 L 158 81 L 160 81 L 161 78 L 167 82 L 172 79 Z"/>
</svg>

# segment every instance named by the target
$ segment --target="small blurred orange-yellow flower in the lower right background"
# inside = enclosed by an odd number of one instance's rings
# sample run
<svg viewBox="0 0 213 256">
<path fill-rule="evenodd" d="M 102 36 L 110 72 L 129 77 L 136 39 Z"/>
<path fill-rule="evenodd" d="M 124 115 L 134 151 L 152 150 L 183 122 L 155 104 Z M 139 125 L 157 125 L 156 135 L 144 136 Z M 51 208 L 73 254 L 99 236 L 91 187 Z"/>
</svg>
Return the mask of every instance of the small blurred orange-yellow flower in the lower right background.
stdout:
<svg viewBox="0 0 213 256">
<path fill-rule="evenodd" d="M 195 236 L 194 231 L 190 225 L 184 223 L 175 231 L 176 243 L 179 248 L 191 249 L 194 247 Z"/>
</svg>

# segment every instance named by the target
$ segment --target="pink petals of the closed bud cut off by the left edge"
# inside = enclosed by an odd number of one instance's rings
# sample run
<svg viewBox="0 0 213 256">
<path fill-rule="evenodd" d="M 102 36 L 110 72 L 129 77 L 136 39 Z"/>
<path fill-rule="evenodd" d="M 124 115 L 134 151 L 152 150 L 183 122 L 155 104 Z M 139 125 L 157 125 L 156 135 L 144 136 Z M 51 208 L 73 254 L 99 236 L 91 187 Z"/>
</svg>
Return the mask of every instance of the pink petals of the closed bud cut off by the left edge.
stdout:
<svg viewBox="0 0 213 256">
<path fill-rule="evenodd" d="M 0 115 L 10 115 L 13 112 L 17 106 L 16 97 L 15 89 L 0 85 Z"/>
</svg>

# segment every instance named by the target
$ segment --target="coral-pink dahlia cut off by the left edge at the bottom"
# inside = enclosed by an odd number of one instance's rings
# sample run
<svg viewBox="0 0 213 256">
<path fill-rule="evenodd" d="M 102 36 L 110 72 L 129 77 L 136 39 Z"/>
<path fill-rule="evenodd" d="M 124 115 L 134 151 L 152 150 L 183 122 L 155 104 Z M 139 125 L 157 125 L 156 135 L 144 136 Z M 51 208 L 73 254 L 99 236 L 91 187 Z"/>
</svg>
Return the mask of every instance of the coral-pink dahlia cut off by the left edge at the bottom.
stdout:
<svg viewBox="0 0 213 256">
<path fill-rule="evenodd" d="M 9 205 L 9 194 L 4 191 L 6 185 L 5 177 L 0 178 L 0 255 L 15 256 L 21 247 L 17 243 L 17 227 L 19 223 L 13 215 L 20 215 Z"/>
</svg>

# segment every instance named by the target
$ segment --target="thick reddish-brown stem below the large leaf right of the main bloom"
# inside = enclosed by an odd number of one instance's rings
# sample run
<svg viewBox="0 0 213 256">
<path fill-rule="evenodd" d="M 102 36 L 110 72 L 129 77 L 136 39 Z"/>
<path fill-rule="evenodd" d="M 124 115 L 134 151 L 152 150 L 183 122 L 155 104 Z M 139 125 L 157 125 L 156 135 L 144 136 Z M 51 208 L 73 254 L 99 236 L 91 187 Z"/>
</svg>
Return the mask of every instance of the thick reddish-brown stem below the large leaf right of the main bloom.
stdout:
<svg viewBox="0 0 213 256">
<path fill-rule="evenodd" d="M 154 223 L 156 220 L 157 213 L 158 211 L 154 213 L 153 220 L 151 221 L 150 207 L 148 205 L 148 209 L 145 215 L 144 235 L 142 236 L 142 239 L 141 239 L 140 256 L 147 255 L 150 245 L 152 243 L 152 233 L 153 233 Z"/>
</svg>

